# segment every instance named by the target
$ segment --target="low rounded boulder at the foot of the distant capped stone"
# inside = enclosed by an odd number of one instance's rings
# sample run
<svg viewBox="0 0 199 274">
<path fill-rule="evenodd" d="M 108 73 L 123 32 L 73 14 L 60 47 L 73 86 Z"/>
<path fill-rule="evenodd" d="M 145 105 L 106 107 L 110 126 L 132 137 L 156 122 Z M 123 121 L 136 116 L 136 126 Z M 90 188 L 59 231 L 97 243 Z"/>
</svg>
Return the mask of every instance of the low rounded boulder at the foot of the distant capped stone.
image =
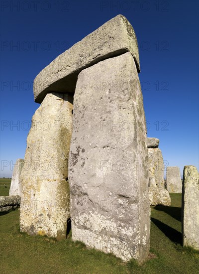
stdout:
<svg viewBox="0 0 199 274">
<path fill-rule="evenodd" d="M 157 187 L 155 178 L 150 177 L 150 186 L 149 186 L 149 201 L 150 204 L 155 205 L 171 205 L 171 198 L 169 192 L 166 189 Z"/>
</svg>

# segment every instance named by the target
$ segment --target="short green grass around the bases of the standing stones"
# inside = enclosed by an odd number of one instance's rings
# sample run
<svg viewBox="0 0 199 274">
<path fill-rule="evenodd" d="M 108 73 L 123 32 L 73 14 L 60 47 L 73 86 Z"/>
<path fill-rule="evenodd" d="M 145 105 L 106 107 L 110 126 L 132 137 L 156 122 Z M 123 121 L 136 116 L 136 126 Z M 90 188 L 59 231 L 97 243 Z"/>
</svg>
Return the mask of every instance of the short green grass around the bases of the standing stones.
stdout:
<svg viewBox="0 0 199 274">
<path fill-rule="evenodd" d="M 19 210 L 0 215 L 1 274 L 196 274 L 199 252 L 181 245 L 181 194 L 151 208 L 150 258 L 142 266 L 74 243 L 19 232 Z"/>
</svg>

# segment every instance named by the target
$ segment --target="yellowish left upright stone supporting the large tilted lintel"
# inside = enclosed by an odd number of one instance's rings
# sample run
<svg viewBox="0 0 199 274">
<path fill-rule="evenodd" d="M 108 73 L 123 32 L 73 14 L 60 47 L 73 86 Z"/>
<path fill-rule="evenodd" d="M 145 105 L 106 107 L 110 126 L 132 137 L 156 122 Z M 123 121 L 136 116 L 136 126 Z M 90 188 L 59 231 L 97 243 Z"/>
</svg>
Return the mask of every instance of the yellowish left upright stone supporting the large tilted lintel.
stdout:
<svg viewBox="0 0 199 274">
<path fill-rule="evenodd" d="M 32 118 L 20 177 L 20 230 L 29 235 L 66 238 L 72 109 L 68 94 L 47 94 Z"/>
</svg>

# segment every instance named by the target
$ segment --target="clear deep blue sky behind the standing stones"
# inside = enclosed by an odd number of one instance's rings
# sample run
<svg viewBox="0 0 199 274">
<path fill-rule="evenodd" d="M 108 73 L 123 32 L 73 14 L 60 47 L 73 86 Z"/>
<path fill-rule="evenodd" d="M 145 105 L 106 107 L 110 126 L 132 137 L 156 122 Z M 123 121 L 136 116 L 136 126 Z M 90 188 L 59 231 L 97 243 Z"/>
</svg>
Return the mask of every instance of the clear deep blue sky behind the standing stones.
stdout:
<svg viewBox="0 0 199 274">
<path fill-rule="evenodd" d="M 160 139 L 164 160 L 181 174 L 184 165 L 198 168 L 198 10 L 197 0 L 0 1 L 0 176 L 10 177 L 12 163 L 24 158 L 39 107 L 36 75 L 117 14 L 137 35 L 148 137 Z"/>
</svg>

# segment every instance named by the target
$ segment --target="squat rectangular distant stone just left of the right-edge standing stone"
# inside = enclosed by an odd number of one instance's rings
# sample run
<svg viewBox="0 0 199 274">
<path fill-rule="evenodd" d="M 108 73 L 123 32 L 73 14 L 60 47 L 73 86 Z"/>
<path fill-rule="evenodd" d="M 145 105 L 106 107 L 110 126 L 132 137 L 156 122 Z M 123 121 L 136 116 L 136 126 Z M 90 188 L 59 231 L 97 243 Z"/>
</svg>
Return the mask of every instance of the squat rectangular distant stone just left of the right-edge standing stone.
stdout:
<svg viewBox="0 0 199 274">
<path fill-rule="evenodd" d="M 182 193 L 182 180 L 178 166 L 167 167 L 167 190 L 169 193 Z"/>
</svg>

